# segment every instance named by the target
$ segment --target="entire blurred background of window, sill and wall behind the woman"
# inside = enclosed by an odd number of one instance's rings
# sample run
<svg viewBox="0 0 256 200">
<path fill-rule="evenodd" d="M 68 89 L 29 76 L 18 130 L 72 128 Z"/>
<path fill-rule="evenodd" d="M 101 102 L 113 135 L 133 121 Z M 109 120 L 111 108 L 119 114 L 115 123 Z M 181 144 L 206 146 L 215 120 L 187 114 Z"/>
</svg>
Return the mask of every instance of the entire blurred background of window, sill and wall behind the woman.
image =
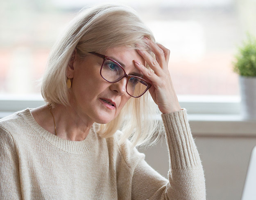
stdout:
<svg viewBox="0 0 256 200">
<path fill-rule="evenodd" d="M 102 2 L 106 1 L 0 0 L 1 116 L 43 104 L 38 80 L 50 48 L 79 9 Z M 156 40 L 170 49 L 169 70 L 181 106 L 188 109 L 207 199 L 240 200 L 256 145 L 256 122 L 239 116 L 238 74 L 232 62 L 246 33 L 256 36 L 256 0 L 107 2 L 133 7 Z M 156 147 L 141 151 L 167 178 L 164 136 Z"/>
</svg>

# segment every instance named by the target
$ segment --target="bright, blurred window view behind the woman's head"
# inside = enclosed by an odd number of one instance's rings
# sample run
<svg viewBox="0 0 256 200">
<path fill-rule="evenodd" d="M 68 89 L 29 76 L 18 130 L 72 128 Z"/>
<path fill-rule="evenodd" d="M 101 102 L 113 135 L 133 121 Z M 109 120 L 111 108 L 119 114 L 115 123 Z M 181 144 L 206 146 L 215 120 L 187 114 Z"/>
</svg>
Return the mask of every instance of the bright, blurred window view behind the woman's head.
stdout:
<svg viewBox="0 0 256 200">
<path fill-rule="evenodd" d="M 246 31 L 256 32 L 255 0 L 118 2 L 136 9 L 156 40 L 170 49 L 178 95 L 239 95 L 233 55 Z M 89 4 L 91 0 L 1 0 L 1 94 L 40 92 L 35 80 L 43 74 L 52 44 Z"/>
</svg>

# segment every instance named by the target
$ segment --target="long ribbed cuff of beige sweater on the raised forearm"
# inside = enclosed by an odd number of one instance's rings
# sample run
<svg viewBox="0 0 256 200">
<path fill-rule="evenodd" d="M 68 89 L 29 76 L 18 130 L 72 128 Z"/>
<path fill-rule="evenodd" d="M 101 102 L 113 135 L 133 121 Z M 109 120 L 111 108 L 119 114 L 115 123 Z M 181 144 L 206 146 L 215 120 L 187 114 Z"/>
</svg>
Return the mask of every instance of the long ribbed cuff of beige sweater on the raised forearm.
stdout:
<svg viewBox="0 0 256 200">
<path fill-rule="evenodd" d="M 172 169 L 195 167 L 201 163 L 187 119 L 186 109 L 162 114 Z"/>
</svg>

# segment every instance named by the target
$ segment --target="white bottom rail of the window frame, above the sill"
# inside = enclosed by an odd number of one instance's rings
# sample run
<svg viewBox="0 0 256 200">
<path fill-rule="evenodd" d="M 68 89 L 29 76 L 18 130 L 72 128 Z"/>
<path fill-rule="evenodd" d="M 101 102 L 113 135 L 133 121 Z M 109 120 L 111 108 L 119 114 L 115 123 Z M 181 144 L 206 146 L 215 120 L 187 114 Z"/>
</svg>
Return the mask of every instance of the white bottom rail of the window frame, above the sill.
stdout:
<svg viewBox="0 0 256 200">
<path fill-rule="evenodd" d="M 188 114 L 219 114 L 239 115 L 239 96 L 207 96 L 207 95 L 177 95 L 182 108 Z M 8 113 L 45 104 L 40 94 L 33 95 L 0 95 L 0 117 Z M 2 113 L 2 114 L 1 114 Z M 5 113 L 5 114 L 3 114 Z"/>
</svg>

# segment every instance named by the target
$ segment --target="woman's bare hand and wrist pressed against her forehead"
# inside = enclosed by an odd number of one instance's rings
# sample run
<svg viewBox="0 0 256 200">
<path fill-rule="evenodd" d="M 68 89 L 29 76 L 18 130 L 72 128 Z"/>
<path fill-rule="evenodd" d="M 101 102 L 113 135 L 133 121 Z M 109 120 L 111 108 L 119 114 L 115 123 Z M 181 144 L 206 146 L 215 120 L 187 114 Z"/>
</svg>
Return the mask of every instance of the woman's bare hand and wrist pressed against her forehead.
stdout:
<svg viewBox="0 0 256 200">
<path fill-rule="evenodd" d="M 137 50 L 153 71 L 147 69 L 143 64 L 134 61 L 135 66 L 140 70 L 146 80 L 152 83 L 149 89 L 154 102 L 158 105 L 162 113 L 171 113 L 181 110 L 177 95 L 174 91 L 170 72 L 168 70 L 168 61 L 170 50 L 161 44 L 155 44 L 150 39 L 147 43 L 151 47 L 156 59 L 152 58 L 147 51 Z"/>
</svg>

